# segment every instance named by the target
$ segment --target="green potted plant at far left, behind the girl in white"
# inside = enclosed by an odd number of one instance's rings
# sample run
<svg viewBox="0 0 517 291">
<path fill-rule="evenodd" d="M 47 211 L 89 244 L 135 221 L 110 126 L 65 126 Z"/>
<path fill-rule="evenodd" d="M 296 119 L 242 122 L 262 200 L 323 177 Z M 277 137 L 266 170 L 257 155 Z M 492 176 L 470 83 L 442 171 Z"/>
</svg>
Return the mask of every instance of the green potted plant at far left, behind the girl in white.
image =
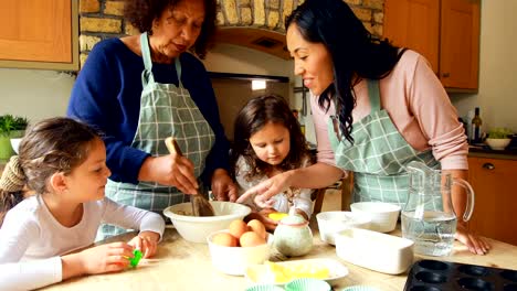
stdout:
<svg viewBox="0 0 517 291">
<path fill-rule="evenodd" d="M 0 116 L 0 160 L 9 160 L 14 153 L 11 139 L 20 139 L 25 133 L 29 120 L 24 117 Z"/>
</svg>

